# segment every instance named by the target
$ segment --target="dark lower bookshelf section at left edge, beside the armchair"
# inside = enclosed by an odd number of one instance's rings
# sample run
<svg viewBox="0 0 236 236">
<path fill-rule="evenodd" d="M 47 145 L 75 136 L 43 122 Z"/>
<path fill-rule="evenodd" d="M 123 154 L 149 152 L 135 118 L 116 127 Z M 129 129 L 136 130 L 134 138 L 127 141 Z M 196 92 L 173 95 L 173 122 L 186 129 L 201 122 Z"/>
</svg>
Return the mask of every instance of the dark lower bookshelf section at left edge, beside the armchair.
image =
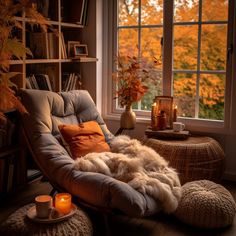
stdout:
<svg viewBox="0 0 236 236">
<path fill-rule="evenodd" d="M 19 114 L 5 113 L 7 122 L 0 127 L 0 198 L 27 183 L 25 148 L 20 136 Z"/>
</svg>

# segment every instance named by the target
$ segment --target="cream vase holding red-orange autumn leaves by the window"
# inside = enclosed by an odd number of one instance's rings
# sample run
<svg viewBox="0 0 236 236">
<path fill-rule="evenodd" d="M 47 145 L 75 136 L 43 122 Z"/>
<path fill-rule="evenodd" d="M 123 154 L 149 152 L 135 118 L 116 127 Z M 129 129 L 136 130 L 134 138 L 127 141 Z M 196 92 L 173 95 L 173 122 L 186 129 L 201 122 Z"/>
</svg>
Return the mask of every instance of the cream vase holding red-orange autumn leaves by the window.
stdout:
<svg viewBox="0 0 236 236">
<path fill-rule="evenodd" d="M 120 127 L 123 129 L 134 129 L 136 124 L 136 115 L 131 106 L 127 105 L 125 111 L 120 117 Z"/>
</svg>

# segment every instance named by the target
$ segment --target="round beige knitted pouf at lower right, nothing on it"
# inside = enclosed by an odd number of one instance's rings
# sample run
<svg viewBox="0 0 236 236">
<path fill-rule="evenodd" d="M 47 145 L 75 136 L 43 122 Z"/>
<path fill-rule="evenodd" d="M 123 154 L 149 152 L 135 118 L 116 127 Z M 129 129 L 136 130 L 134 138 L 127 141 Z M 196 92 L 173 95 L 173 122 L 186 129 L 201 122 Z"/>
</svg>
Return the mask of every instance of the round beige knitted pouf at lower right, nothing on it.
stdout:
<svg viewBox="0 0 236 236">
<path fill-rule="evenodd" d="M 220 228 L 232 224 L 236 204 L 222 185 L 199 180 L 182 186 L 182 198 L 175 216 L 184 223 L 201 228 Z"/>
</svg>

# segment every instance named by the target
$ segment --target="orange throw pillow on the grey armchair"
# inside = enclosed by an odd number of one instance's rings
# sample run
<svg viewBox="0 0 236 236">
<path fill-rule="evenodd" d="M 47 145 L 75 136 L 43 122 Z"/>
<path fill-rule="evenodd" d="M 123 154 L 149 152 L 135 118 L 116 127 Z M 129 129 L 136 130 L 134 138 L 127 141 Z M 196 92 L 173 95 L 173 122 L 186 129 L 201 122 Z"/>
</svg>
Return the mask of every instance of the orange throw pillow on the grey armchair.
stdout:
<svg viewBox="0 0 236 236">
<path fill-rule="evenodd" d="M 60 133 L 66 149 L 73 159 L 90 152 L 110 151 L 101 127 L 96 121 L 88 121 L 78 125 L 59 125 Z"/>
</svg>

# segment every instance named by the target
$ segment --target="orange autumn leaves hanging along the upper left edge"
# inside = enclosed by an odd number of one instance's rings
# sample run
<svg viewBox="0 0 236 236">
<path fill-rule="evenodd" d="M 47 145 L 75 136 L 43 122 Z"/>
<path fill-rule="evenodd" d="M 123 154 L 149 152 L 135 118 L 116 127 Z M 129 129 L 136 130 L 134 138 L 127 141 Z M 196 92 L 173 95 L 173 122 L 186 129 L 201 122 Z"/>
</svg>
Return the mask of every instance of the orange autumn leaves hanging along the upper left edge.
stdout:
<svg viewBox="0 0 236 236">
<path fill-rule="evenodd" d="M 10 72 L 10 60 L 15 57 L 22 60 L 26 54 L 32 55 L 30 49 L 13 35 L 13 29 L 22 29 L 21 21 L 17 21 L 17 14 L 31 18 L 33 23 L 41 26 L 46 31 L 48 23 L 46 19 L 37 11 L 36 5 L 30 0 L 0 0 L 0 121 L 6 119 L 4 112 L 10 109 L 17 109 L 25 112 L 24 106 L 15 96 L 16 85 L 11 82 L 11 78 L 19 74 Z"/>
</svg>

